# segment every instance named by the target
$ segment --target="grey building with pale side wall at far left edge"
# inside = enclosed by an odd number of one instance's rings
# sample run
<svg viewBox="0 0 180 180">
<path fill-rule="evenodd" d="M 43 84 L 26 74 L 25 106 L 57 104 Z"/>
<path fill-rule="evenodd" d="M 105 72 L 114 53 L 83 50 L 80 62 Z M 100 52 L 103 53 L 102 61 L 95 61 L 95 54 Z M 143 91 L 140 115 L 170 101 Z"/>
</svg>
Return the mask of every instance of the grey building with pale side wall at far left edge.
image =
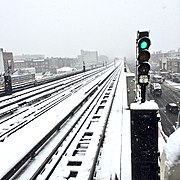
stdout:
<svg viewBox="0 0 180 180">
<path fill-rule="evenodd" d="M 4 73 L 12 74 L 14 72 L 14 61 L 12 52 L 3 52 L 3 48 L 0 48 L 0 74 Z"/>
</svg>

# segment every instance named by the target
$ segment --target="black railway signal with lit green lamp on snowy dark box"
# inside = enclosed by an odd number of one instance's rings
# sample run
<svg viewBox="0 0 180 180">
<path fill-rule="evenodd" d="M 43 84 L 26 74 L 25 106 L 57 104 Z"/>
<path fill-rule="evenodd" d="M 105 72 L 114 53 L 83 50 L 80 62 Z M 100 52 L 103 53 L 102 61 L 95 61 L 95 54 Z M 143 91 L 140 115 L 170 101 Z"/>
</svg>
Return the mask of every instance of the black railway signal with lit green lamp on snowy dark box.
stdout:
<svg viewBox="0 0 180 180">
<path fill-rule="evenodd" d="M 149 39 L 148 31 L 138 31 L 136 40 L 136 57 L 137 57 L 137 73 L 138 84 L 141 86 L 141 102 L 145 102 L 146 86 L 149 82 L 149 70 L 150 70 L 150 52 L 148 51 L 151 40 Z"/>
</svg>

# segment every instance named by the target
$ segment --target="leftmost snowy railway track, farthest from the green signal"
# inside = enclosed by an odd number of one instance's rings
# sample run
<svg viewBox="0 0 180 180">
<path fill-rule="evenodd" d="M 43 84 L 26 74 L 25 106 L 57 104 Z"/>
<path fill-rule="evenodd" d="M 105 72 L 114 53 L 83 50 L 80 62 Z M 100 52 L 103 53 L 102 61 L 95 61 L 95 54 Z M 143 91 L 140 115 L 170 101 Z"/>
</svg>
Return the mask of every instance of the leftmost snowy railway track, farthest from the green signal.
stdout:
<svg viewBox="0 0 180 180">
<path fill-rule="evenodd" d="M 54 90 L 53 93 L 58 92 L 60 89 L 65 89 L 66 87 L 72 86 L 76 84 L 79 81 L 83 81 L 85 79 L 88 79 L 93 76 L 99 76 L 101 73 L 105 73 L 107 69 L 101 68 L 100 70 L 94 70 L 94 71 L 88 71 L 83 74 L 77 74 L 73 77 L 68 77 L 63 80 L 58 80 L 56 82 L 50 82 L 45 85 L 41 85 L 35 88 L 30 88 L 25 91 L 21 91 L 18 93 L 15 93 L 11 96 L 4 96 L 0 98 L 0 108 L 3 109 L 5 107 L 8 107 L 10 105 L 13 105 L 15 103 L 18 103 L 18 105 L 24 105 L 26 104 L 26 100 L 39 96 L 39 98 L 43 98 L 46 96 L 49 96 L 52 94 L 50 90 Z M 41 96 L 40 96 L 41 95 Z M 39 98 L 34 98 L 34 99 L 39 99 Z"/>
</svg>

